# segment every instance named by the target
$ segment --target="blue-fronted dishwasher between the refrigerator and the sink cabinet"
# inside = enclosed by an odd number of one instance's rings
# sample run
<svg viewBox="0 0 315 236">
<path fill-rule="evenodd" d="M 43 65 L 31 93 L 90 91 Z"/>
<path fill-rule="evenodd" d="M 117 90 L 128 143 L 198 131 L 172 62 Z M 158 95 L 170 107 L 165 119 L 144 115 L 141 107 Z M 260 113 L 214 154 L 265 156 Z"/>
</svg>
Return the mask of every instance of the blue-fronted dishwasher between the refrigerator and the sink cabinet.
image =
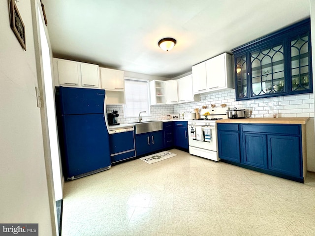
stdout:
<svg viewBox="0 0 315 236">
<path fill-rule="evenodd" d="M 112 164 L 135 157 L 134 127 L 110 129 L 109 148 Z"/>
</svg>

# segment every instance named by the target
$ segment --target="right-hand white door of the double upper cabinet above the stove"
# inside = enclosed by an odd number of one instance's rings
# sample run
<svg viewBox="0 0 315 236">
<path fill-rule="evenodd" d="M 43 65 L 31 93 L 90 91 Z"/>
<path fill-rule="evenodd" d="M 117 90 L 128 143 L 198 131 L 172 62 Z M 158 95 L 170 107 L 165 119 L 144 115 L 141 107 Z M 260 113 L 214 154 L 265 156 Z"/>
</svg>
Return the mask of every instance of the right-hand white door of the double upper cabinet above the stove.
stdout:
<svg viewBox="0 0 315 236">
<path fill-rule="evenodd" d="M 206 61 L 208 90 L 226 87 L 226 53 Z"/>
</svg>

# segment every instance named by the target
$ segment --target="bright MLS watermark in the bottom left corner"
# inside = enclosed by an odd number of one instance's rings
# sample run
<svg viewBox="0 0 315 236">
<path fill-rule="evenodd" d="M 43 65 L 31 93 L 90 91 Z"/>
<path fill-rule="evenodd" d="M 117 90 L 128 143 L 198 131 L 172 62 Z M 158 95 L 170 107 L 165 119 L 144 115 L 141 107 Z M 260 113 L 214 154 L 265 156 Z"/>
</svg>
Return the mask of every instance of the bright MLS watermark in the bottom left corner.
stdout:
<svg viewBox="0 0 315 236">
<path fill-rule="evenodd" d="M 0 224 L 0 236 L 38 236 L 38 224 Z"/>
</svg>

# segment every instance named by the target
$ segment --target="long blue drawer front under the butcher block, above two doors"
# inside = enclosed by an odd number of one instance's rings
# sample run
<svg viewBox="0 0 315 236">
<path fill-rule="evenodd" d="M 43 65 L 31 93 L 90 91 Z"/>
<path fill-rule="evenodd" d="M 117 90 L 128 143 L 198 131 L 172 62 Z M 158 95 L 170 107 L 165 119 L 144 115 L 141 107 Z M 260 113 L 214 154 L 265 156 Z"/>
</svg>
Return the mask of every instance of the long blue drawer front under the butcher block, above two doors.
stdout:
<svg viewBox="0 0 315 236">
<path fill-rule="evenodd" d="M 300 135 L 300 124 L 243 124 L 243 132 Z"/>
</svg>

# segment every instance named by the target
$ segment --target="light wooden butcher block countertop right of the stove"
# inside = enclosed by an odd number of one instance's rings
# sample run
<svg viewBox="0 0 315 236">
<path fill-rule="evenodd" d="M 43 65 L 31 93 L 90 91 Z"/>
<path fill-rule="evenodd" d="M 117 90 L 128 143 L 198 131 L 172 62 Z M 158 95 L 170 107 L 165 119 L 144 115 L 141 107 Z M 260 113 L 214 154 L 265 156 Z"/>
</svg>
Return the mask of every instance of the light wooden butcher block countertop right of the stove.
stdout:
<svg viewBox="0 0 315 236">
<path fill-rule="evenodd" d="M 219 119 L 217 123 L 306 124 L 309 117 Z"/>
</svg>

